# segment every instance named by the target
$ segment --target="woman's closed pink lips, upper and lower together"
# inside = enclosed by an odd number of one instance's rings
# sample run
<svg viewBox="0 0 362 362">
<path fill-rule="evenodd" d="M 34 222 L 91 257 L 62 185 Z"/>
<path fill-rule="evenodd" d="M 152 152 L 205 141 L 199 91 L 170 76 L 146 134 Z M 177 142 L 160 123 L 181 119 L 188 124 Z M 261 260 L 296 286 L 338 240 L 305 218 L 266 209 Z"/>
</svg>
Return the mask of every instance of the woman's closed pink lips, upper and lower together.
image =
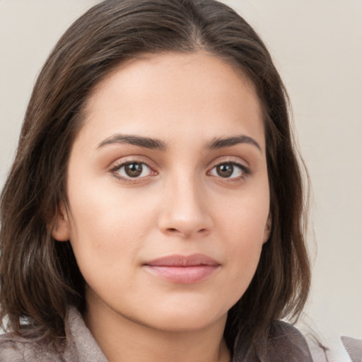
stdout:
<svg viewBox="0 0 362 362">
<path fill-rule="evenodd" d="M 146 262 L 144 267 L 154 276 L 173 283 L 192 284 L 211 276 L 220 263 L 202 254 L 170 255 Z"/>
</svg>

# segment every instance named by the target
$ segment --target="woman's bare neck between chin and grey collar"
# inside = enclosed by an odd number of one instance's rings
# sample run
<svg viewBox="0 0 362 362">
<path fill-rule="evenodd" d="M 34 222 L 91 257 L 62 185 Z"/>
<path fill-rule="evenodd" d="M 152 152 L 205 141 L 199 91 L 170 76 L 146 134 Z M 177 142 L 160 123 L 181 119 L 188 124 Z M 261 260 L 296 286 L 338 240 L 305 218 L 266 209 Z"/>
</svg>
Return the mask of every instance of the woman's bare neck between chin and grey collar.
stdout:
<svg viewBox="0 0 362 362">
<path fill-rule="evenodd" d="M 191 331 L 160 330 L 129 320 L 108 307 L 89 308 L 85 321 L 109 362 L 228 362 L 226 316 Z"/>
</svg>

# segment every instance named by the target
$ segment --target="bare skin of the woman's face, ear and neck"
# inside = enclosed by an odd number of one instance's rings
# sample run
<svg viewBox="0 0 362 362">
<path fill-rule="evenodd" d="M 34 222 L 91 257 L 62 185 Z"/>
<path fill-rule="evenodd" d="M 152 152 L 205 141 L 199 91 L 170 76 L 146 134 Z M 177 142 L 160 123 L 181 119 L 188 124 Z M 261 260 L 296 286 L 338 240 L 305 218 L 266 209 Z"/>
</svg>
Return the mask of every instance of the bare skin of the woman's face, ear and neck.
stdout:
<svg viewBox="0 0 362 362">
<path fill-rule="evenodd" d="M 138 177 L 127 175 L 132 162 Z M 108 360 L 228 361 L 226 316 L 269 237 L 264 127 L 250 81 L 202 52 L 121 64 L 88 102 L 67 194 L 53 236 L 71 240 L 86 324 Z M 218 265 L 192 283 L 145 265 L 194 254 Z"/>
</svg>

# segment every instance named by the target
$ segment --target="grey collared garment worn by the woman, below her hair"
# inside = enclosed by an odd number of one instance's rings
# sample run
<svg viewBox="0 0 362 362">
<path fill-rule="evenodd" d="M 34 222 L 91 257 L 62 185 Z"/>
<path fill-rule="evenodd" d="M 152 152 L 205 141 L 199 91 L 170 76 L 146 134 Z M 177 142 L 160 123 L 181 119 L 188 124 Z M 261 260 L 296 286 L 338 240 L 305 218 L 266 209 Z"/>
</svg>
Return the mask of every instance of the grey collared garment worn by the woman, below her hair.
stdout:
<svg viewBox="0 0 362 362">
<path fill-rule="evenodd" d="M 81 314 L 70 308 L 65 323 L 65 344 L 50 347 L 46 341 L 34 341 L 3 334 L 0 336 L 0 362 L 107 362 Z M 274 337 L 268 341 L 267 362 L 312 362 L 310 351 L 297 329 L 284 322 L 274 328 Z M 232 362 L 254 362 L 255 356 L 240 358 L 237 353 Z"/>
</svg>

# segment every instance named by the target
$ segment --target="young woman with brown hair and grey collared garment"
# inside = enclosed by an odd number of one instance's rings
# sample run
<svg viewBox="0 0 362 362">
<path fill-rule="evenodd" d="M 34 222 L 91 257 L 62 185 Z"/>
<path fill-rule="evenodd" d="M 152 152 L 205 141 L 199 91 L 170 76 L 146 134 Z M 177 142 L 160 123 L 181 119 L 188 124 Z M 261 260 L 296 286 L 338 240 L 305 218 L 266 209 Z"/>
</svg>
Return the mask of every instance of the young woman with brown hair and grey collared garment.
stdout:
<svg viewBox="0 0 362 362">
<path fill-rule="evenodd" d="M 310 361 L 303 187 L 262 40 L 103 1 L 40 73 L 1 197 L 1 361 Z"/>
</svg>

